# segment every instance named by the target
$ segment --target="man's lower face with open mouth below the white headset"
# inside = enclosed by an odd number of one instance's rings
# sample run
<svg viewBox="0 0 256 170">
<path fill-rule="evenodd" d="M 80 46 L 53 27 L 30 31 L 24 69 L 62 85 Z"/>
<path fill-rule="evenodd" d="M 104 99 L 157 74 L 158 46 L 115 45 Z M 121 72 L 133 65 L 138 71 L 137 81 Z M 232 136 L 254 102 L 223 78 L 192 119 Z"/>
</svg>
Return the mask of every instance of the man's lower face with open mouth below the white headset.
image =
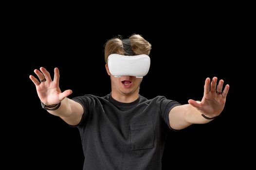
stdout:
<svg viewBox="0 0 256 170">
<path fill-rule="evenodd" d="M 112 93 L 117 93 L 124 96 L 139 93 L 139 87 L 142 82 L 142 78 L 136 78 L 135 76 L 114 77 L 110 74 L 107 65 L 106 69 L 110 75 Z"/>
</svg>

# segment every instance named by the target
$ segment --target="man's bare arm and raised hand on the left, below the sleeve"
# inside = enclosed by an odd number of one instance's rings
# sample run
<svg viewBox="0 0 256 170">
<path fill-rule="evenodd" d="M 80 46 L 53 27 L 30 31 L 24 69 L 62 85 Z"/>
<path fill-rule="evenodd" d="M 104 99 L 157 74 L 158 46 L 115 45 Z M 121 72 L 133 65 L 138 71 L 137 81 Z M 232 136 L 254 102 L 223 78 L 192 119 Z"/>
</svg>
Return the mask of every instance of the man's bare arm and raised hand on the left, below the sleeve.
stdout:
<svg viewBox="0 0 256 170">
<path fill-rule="evenodd" d="M 41 71 L 41 72 L 40 72 Z M 33 75 L 30 75 L 29 78 L 36 85 L 37 95 L 41 102 L 47 105 L 53 105 L 60 103 L 60 107 L 54 111 L 48 110 L 49 113 L 55 116 L 59 116 L 65 122 L 70 125 L 77 125 L 83 115 L 83 107 L 78 102 L 75 102 L 67 97 L 72 94 L 72 90 L 65 90 L 61 92 L 59 88 L 59 70 L 58 68 L 54 69 L 54 80 L 52 81 L 50 73 L 45 68 L 40 68 L 40 71 L 35 69 L 34 72 L 37 74 L 38 81 Z"/>
</svg>

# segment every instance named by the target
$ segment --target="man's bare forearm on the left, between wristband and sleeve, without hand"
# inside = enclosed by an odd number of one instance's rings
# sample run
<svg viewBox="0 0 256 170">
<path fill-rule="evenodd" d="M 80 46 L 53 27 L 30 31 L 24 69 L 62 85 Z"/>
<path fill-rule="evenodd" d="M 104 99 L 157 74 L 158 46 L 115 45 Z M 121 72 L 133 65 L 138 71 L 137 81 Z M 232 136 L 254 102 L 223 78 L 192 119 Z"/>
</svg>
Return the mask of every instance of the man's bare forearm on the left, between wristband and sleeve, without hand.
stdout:
<svg viewBox="0 0 256 170">
<path fill-rule="evenodd" d="M 71 125 L 78 124 L 84 112 L 81 104 L 69 98 L 65 98 L 63 101 L 61 101 L 60 107 L 58 109 L 47 111 L 52 115 L 60 117 Z"/>
</svg>

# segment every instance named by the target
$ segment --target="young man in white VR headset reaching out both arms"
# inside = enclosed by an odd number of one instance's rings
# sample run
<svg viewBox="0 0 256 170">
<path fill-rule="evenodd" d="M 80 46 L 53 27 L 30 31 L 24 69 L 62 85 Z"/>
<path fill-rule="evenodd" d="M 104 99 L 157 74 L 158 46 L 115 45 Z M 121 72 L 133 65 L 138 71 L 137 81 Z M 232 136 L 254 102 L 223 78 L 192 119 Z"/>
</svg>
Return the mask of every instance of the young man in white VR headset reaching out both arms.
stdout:
<svg viewBox="0 0 256 170">
<path fill-rule="evenodd" d="M 208 123 L 222 112 L 229 85 L 222 91 L 224 81 L 217 85 L 217 77 L 212 82 L 206 78 L 201 102 L 189 100 L 181 105 L 163 96 L 151 100 L 141 96 L 139 87 L 149 69 L 150 50 L 151 44 L 138 34 L 125 40 L 112 38 L 105 44 L 111 80 L 111 92 L 105 97 L 69 99 L 72 90 L 61 92 L 58 68 L 53 81 L 42 67 L 35 69 L 40 82 L 30 75 L 42 107 L 79 129 L 84 170 L 161 170 L 168 130 Z"/>
</svg>

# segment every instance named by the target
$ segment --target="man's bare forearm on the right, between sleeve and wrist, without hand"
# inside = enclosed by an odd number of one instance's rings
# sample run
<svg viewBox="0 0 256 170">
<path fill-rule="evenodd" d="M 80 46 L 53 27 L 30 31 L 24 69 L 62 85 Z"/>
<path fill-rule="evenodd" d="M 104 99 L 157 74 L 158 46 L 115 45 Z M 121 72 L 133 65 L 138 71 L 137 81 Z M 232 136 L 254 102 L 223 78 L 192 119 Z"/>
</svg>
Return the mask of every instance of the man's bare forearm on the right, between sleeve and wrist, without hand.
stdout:
<svg viewBox="0 0 256 170">
<path fill-rule="evenodd" d="M 190 104 L 174 107 L 169 113 L 170 126 L 173 129 L 183 129 L 191 124 L 208 123 L 212 119 L 205 119 L 202 113 Z"/>
</svg>

